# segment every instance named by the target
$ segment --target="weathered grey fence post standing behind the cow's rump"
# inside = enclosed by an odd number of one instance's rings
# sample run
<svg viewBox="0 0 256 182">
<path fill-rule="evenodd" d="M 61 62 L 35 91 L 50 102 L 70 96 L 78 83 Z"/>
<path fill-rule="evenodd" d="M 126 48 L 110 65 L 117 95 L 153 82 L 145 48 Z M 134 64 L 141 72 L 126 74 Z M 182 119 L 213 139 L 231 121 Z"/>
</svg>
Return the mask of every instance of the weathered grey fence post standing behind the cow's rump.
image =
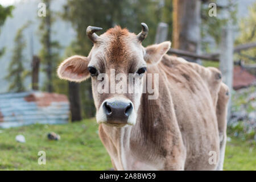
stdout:
<svg viewBox="0 0 256 182">
<path fill-rule="evenodd" d="M 220 45 L 220 71 L 222 81 L 229 87 L 228 121 L 231 114 L 231 97 L 233 89 L 233 34 L 232 27 L 228 24 L 222 28 Z"/>
</svg>

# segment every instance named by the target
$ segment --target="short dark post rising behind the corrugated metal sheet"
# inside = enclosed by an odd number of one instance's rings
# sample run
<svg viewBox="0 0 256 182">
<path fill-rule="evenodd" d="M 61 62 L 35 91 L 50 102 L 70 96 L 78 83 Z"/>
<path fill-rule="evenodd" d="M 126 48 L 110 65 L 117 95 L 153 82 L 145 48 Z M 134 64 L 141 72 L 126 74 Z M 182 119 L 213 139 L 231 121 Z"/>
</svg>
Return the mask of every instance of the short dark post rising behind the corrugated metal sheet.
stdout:
<svg viewBox="0 0 256 182">
<path fill-rule="evenodd" d="M 32 90 L 38 90 L 40 59 L 33 56 L 32 60 Z"/>
</svg>

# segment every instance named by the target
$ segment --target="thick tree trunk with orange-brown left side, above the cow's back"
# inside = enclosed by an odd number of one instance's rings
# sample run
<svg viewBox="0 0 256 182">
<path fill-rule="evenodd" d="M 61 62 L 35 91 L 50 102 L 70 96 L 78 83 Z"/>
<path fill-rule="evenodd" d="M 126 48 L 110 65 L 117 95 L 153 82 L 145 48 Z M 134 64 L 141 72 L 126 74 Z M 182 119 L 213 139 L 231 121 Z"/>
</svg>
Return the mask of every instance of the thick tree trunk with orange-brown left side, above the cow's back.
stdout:
<svg viewBox="0 0 256 182">
<path fill-rule="evenodd" d="M 172 48 L 200 53 L 200 0 L 173 1 L 173 33 Z M 195 59 L 184 57 L 188 61 Z"/>
</svg>

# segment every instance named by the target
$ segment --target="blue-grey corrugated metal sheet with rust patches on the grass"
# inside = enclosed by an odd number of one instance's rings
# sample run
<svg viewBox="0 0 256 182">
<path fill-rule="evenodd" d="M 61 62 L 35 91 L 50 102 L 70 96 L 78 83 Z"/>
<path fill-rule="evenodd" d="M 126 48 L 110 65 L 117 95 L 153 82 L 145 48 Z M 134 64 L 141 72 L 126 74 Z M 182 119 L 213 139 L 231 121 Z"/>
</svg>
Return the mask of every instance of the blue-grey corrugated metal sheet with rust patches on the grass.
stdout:
<svg viewBox="0 0 256 182">
<path fill-rule="evenodd" d="M 39 91 L 0 94 L 0 127 L 67 123 L 67 96 Z"/>
</svg>

